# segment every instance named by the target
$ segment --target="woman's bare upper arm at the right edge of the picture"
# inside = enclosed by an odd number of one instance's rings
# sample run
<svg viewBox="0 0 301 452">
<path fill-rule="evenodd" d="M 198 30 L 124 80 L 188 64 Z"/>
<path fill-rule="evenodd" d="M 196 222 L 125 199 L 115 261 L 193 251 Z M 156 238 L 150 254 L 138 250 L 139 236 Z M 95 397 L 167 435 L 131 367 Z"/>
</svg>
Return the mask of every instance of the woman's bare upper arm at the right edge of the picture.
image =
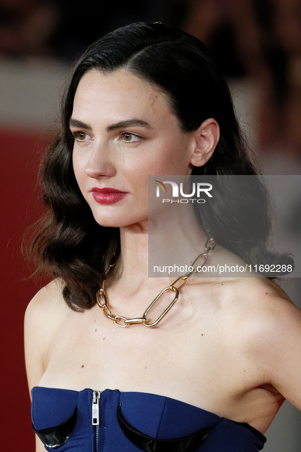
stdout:
<svg viewBox="0 0 301 452">
<path fill-rule="evenodd" d="M 267 383 L 301 411 L 301 310 L 272 281 L 260 286 L 250 294 L 254 360 Z"/>
</svg>

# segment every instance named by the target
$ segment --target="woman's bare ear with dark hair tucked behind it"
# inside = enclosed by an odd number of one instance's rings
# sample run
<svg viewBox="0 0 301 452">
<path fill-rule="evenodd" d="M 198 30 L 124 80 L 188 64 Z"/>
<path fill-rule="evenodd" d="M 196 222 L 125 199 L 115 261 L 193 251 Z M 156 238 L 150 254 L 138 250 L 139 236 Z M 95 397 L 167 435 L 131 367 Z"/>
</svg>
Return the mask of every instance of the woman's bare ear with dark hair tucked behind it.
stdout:
<svg viewBox="0 0 301 452">
<path fill-rule="evenodd" d="M 198 130 L 193 132 L 193 139 L 190 163 L 194 166 L 203 166 L 211 157 L 220 139 L 220 126 L 217 121 L 213 118 L 206 119 Z"/>
</svg>

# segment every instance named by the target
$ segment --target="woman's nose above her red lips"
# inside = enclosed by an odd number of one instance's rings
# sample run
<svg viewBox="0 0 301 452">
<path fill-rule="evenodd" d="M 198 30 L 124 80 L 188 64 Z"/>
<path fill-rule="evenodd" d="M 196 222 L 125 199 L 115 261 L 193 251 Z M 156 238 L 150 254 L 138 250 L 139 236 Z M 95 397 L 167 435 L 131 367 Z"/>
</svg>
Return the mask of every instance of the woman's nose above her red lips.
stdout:
<svg viewBox="0 0 301 452">
<path fill-rule="evenodd" d="M 85 173 L 91 178 L 112 177 L 116 173 L 116 167 L 112 161 L 112 155 L 103 147 L 95 147 L 86 163 Z"/>
</svg>

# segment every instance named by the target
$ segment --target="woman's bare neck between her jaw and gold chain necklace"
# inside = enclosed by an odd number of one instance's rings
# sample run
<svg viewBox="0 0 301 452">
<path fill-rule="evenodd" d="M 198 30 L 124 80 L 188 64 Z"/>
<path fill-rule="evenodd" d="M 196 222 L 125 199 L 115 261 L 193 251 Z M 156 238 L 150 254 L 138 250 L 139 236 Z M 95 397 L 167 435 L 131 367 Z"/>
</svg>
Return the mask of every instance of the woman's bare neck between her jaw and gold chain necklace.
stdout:
<svg viewBox="0 0 301 452">
<path fill-rule="evenodd" d="M 131 280 L 135 286 L 143 285 L 156 263 L 189 265 L 204 250 L 207 238 L 192 208 L 121 228 L 121 252 L 114 275 L 125 283 Z M 158 274 L 162 276 L 167 274 Z"/>
</svg>

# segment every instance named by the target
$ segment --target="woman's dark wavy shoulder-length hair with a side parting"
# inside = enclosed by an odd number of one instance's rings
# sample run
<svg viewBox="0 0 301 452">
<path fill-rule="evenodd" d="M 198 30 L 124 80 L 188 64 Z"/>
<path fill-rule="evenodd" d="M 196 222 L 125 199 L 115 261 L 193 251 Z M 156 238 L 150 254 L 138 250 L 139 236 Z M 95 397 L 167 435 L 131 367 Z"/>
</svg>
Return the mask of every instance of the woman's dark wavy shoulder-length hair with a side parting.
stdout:
<svg viewBox="0 0 301 452">
<path fill-rule="evenodd" d="M 45 158 L 43 187 L 47 212 L 35 225 L 38 233 L 31 251 L 38 259 L 38 270 L 47 270 L 64 281 L 67 304 L 83 310 L 96 303 L 105 269 L 120 247 L 119 229 L 96 223 L 72 167 L 74 138 L 68 124 L 78 82 L 91 69 L 104 74 L 125 69 L 159 87 L 183 131 L 197 130 L 208 118 L 218 122 L 221 137 L 216 149 L 204 166 L 194 168 L 193 175 L 221 176 L 224 196 L 217 196 L 217 204 L 202 216 L 197 213 L 199 221 L 217 243 L 248 263 L 272 259 L 276 263 L 275 255 L 266 248 L 267 196 L 260 181 L 256 196 L 250 193 L 249 199 L 239 199 L 239 193 L 233 198 L 231 178 L 223 183 L 223 175 L 254 176 L 256 171 L 248 157 L 221 71 L 197 38 L 163 23 L 138 22 L 100 38 L 78 60 L 62 100 L 61 132 Z M 230 222 L 229 209 L 233 212 Z M 242 209 L 242 214 L 238 209 Z M 258 218 L 253 224 L 260 225 L 255 231 L 249 231 L 250 212 Z"/>
</svg>

